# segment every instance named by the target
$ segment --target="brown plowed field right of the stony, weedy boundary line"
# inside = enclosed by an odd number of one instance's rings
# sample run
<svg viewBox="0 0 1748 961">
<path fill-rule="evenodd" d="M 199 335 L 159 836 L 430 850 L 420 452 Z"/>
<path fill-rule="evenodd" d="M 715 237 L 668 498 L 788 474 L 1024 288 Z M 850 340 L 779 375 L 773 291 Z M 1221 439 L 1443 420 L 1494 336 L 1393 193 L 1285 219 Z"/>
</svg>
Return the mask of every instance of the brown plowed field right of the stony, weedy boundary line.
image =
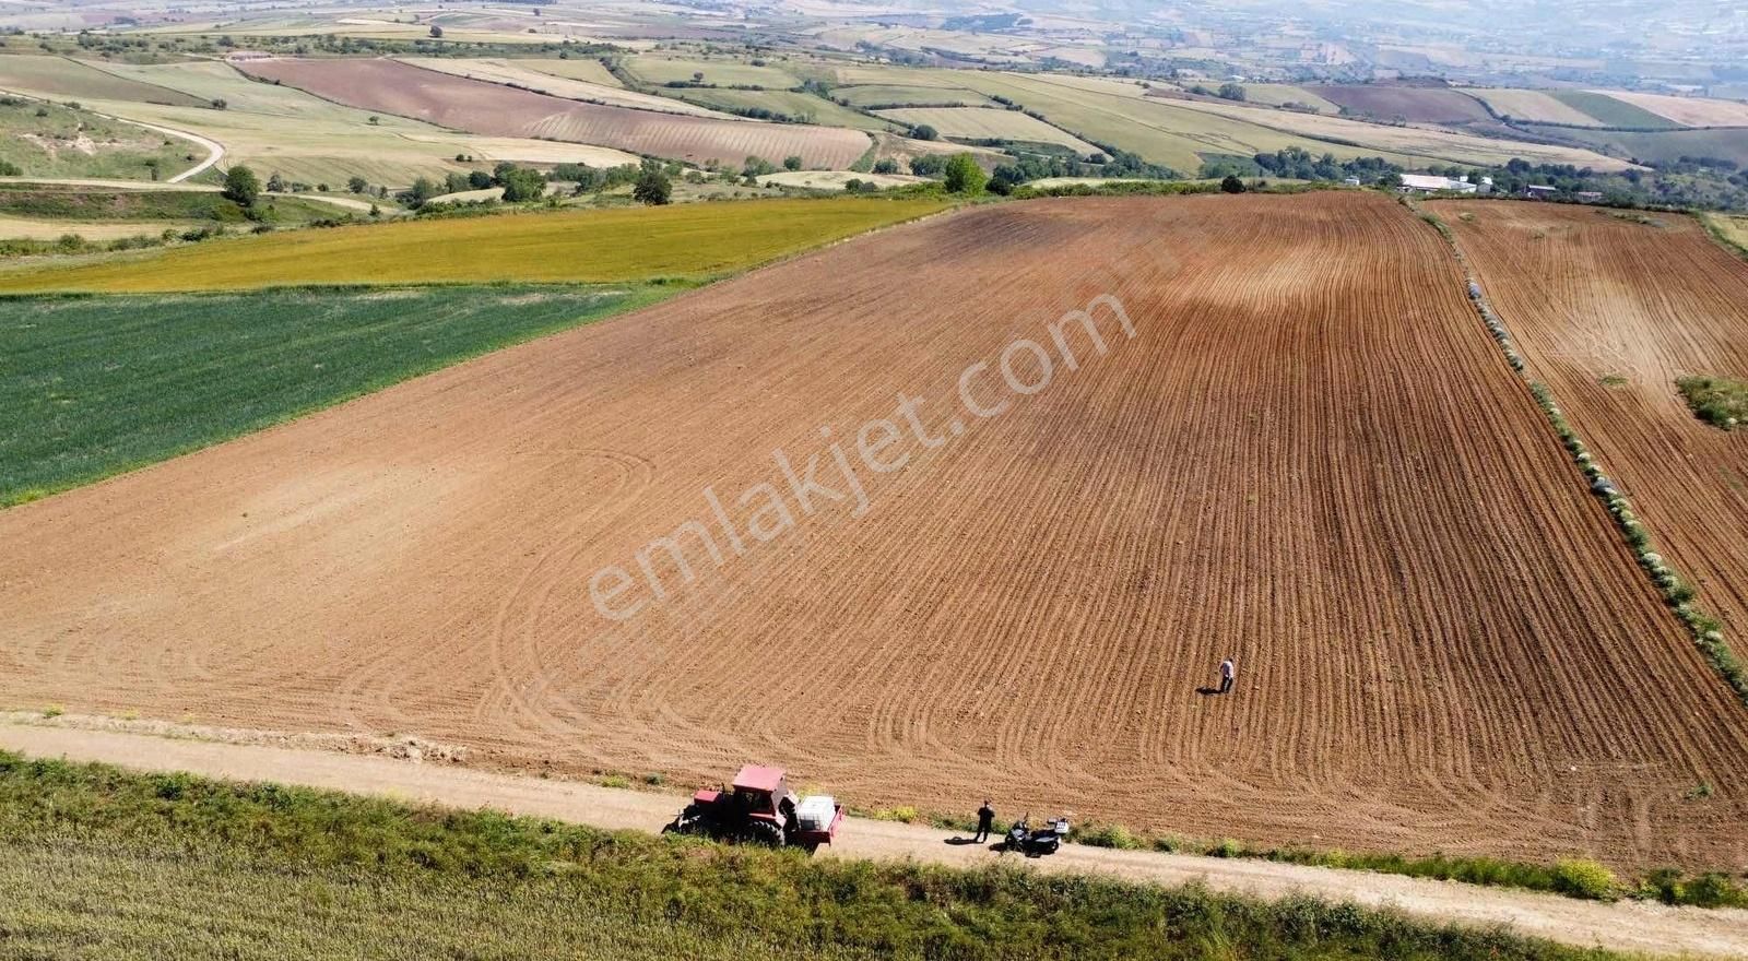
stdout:
<svg viewBox="0 0 1748 961">
<path fill-rule="evenodd" d="M 1675 388 L 1689 374 L 1748 376 L 1748 264 L 1676 213 L 1433 206 L 1530 376 L 1552 388 L 1657 550 L 1748 653 L 1748 433 L 1708 426 Z"/>
</svg>

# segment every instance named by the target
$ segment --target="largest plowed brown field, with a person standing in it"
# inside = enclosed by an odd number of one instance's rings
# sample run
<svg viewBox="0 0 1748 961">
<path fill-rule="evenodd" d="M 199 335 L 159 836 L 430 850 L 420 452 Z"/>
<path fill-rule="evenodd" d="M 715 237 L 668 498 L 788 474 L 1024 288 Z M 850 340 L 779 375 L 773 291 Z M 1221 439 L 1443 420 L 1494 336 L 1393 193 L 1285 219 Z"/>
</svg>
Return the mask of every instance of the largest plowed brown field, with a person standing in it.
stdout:
<svg viewBox="0 0 1748 961">
<path fill-rule="evenodd" d="M 1070 369 L 1047 325 L 1101 294 L 1134 337 L 1070 325 Z M 1031 395 L 998 372 L 1019 339 L 1054 356 Z M 832 446 L 883 418 L 905 463 L 860 470 L 865 514 L 804 510 L 773 451 L 848 491 Z M 692 584 L 650 550 L 687 522 L 722 556 L 685 542 Z M 1197 837 L 1748 860 L 1748 713 L 1444 241 L 1372 194 L 926 220 L 0 512 L 0 704 L 678 785 L 766 760 L 864 807 L 988 792 Z M 1227 653 L 1234 694 L 1197 694 Z"/>
</svg>

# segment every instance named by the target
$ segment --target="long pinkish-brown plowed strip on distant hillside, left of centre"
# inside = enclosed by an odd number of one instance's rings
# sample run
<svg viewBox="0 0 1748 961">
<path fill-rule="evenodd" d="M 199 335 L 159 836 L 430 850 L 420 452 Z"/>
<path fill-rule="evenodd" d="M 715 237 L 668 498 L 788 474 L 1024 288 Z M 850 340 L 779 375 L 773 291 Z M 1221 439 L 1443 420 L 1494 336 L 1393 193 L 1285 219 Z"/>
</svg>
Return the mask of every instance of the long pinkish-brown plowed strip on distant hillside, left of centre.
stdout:
<svg viewBox="0 0 1748 961">
<path fill-rule="evenodd" d="M 750 156 L 771 162 L 799 156 L 811 168 L 846 169 L 871 145 L 867 135 L 851 129 L 580 103 L 395 59 L 250 59 L 236 66 L 360 110 L 468 133 L 568 140 L 694 162 L 739 166 Z"/>
</svg>

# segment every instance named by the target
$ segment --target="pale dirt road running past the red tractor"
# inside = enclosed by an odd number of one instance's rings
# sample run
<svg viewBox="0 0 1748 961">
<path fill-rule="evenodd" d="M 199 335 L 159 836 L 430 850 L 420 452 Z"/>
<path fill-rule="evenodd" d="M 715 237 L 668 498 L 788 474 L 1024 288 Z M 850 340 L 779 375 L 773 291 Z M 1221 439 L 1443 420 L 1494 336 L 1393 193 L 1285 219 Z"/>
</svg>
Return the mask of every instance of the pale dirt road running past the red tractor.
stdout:
<svg viewBox="0 0 1748 961">
<path fill-rule="evenodd" d="M 661 830 L 682 804 L 668 793 L 517 778 L 390 757 L 182 741 L 114 730 L 0 723 L 0 748 L 142 771 L 191 771 L 210 778 L 348 790 L 404 802 L 489 805 L 614 830 Z M 827 851 L 829 856 L 841 858 L 914 858 L 942 865 L 977 865 L 998 856 L 981 846 L 947 844 L 951 837 L 954 835 L 949 832 L 926 826 L 851 818 L 844 823 L 839 844 Z M 1584 947 L 1748 956 L 1748 912 L 1743 910 L 1671 909 L 1636 902 L 1605 905 L 1384 874 L 1082 846 L 1068 846 L 1040 861 L 1010 860 L 1038 870 L 1103 874 L 1159 884 L 1199 881 L 1217 891 L 1266 898 L 1309 893 L 1362 905 L 1393 905 L 1440 921 L 1510 924 L 1519 933 Z"/>
</svg>

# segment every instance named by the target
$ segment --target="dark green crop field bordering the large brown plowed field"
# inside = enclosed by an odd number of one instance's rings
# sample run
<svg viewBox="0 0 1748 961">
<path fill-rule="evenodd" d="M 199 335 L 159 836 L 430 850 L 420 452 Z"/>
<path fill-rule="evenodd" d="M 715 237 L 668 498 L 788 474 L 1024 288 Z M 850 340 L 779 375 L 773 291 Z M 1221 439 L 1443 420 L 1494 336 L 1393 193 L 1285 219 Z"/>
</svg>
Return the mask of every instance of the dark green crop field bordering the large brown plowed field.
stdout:
<svg viewBox="0 0 1748 961">
<path fill-rule="evenodd" d="M 217 444 L 675 287 L 0 301 L 0 507 Z"/>
</svg>

